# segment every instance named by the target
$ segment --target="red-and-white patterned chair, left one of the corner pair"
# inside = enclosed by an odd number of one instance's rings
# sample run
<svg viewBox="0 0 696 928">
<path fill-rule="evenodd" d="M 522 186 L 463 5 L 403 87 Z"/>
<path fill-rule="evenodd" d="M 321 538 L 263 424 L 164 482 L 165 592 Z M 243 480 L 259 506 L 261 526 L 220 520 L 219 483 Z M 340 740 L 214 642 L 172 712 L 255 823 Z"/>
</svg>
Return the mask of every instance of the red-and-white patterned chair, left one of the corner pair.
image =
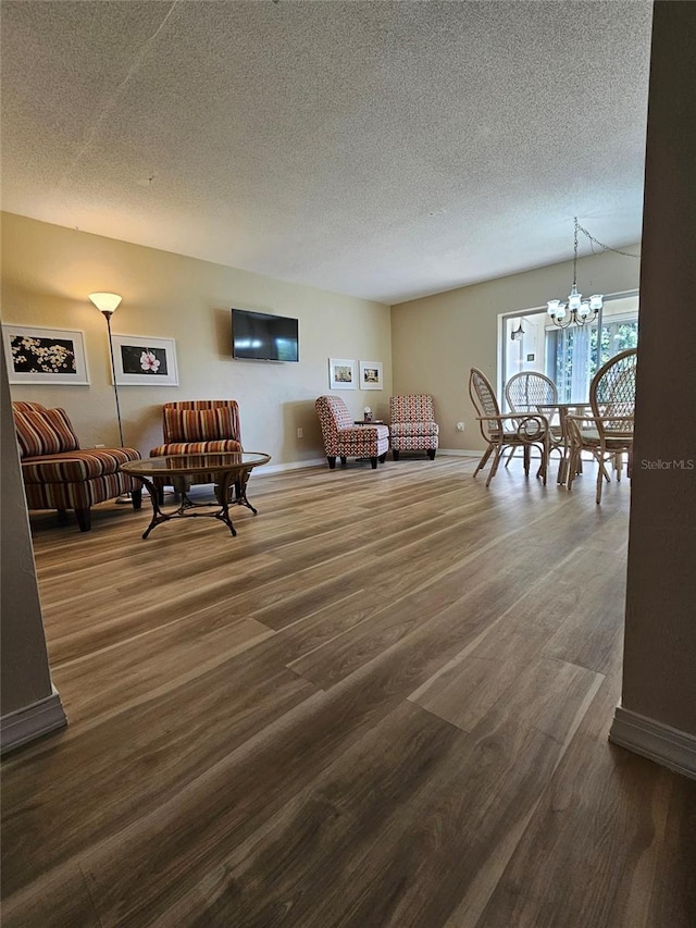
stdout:
<svg viewBox="0 0 696 928">
<path fill-rule="evenodd" d="M 328 467 L 336 458 L 345 466 L 348 457 L 370 458 L 373 470 L 384 463 L 389 450 L 389 429 L 386 425 L 356 425 L 345 401 L 338 396 L 320 396 L 314 404 L 322 426 L 322 437 Z"/>
</svg>

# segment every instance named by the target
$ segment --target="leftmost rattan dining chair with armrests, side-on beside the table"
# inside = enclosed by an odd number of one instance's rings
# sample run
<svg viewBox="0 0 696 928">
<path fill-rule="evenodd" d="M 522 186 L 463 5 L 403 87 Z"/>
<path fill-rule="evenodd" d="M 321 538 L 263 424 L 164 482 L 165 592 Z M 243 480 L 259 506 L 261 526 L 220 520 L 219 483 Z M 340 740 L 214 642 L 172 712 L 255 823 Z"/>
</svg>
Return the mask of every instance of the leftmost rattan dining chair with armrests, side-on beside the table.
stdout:
<svg viewBox="0 0 696 928">
<path fill-rule="evenodd" d="M 488 445 L 478 461 L 474 477 L 486 466 L 488 458 L 493 455 L 493 465 L 486 480 L 486 486 L 488 486 L 497 473 L 500 457 L 506 448 L 522 448 L 524 473 L 529 477 L 530 451 L 533 447 L 538 447 L 542 463 L 536 475 L 540 477 L 546 485 L 549 455 L 549 429 L 546 417 L 538 412 L 501 413 L 493 386 L 478 368 L 471 369 L 469 395 L 478 413 L 476 419 L 481 426 L 481 434 Z"/>
</svg>

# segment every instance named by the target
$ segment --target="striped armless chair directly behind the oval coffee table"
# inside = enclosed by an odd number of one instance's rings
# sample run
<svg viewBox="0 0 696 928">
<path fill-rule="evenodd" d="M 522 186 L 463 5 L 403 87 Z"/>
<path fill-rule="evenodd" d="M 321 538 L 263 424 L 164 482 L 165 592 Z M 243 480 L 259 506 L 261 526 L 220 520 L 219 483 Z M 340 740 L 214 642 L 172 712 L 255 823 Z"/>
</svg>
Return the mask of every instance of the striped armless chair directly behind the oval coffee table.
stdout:
<svg viewBox="0 0 696 928">
<path fill-rule="evenodd" d="M 239 407 L 236 399 L 186 399 L 178 403 L 165 403 L 162 407 L 162 432 L 164 442 L 152 448 L 150 457 L 165 455 L 202 455 L 220 451 L 241 451 L 241 430 L 239 426 Z M 249 475 L 247 474 L 247 480 Z M 186 493 L 192 481 L 183 478 L 174 487 Z M 195 481 L 214 483 L 212 474 L 200 474 Z M 163 492 L 162 478 L 153 483 Z M 240 487 L 236 487 L 239 495 Z"/>
</svg>

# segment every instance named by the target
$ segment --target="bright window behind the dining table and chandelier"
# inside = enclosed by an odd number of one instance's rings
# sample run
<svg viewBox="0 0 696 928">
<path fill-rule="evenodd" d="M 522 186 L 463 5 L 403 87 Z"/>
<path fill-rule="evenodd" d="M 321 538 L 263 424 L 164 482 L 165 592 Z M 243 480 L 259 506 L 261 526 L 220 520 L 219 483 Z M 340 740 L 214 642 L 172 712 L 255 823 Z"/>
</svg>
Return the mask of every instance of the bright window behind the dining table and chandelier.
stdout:
<svg viewBox="0 0 696 928">
<path fill-rule="evenodd" d="M 560 403 L 586 403 L 597 370 L 637 345 L 638 294 L 605 297 L 599 315 L 587 325 L 559 329 L 538 309 L 504 315 L 501 322 L 500 387 L 520 371 L 539 371 L 556 384 Z"/>
</svg>

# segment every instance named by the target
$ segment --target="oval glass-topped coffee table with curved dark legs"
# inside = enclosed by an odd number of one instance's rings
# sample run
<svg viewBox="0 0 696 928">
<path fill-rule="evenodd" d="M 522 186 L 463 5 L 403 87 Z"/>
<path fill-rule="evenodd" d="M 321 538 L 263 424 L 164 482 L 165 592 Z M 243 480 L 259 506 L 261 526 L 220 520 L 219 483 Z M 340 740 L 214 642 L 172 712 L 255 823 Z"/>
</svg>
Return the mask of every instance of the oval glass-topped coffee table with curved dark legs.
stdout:
<svg viewBox="0 0 696 928">
<path fill-rule="evenodd" d="M 156 525 L 169 522 L 170 519 L 190 518 L 192 516 L 209 516 L 224 522 L 233 535 L 237 532 L 229 518 L 229 506 L 246 506 L 253 515 L 257 510 L 247 499 L 247 481 L 254 467 L 268 463 L 271 455 L 262 451 L 220 451 L 207 455 L 163 455 L 158 458 L 146 458 L 139 461 L 128 461 L 121 465 L 121 470 L 130 477 L 137 477 L 148 488 L 152 503 L 152 519 L 142 534 L 150 534 Z M 163 512 L 160 508 L 160 492 L 153 483 L 153 478 L 171 478 L 176 485 L 176 478 L 198 478 L 199 483 L 214 483 L 215 498 L 219 508 L 214 512 L 199 512 L 198 509 L 210 509 L 214 503 L 192 503 L 186 493 L 182 493 L 182 503 L 173 512 Z M 207 478 L 200 480 L 200 478 Z M 236 488 L 234 499 L 229 499 L 232 486 Z"/>
</svg>

